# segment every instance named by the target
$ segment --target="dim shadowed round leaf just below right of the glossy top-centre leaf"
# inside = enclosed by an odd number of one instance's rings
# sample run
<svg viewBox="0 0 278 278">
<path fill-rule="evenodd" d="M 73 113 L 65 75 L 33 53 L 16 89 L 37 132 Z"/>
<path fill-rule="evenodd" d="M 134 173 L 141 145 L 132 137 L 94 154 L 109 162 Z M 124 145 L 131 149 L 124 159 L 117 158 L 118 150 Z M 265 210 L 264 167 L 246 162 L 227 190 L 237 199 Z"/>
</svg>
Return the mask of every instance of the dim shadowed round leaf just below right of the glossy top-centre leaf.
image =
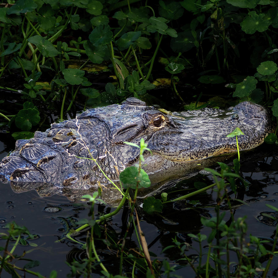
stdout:
<svg viewBox="0 0 278 278">
<path fill-rule="evenodd" d="M 191 30 L 180 32 L 177 37 L 171 39 L 171 48 L 175 52 L 186 52 L 195 46 L 195 38 L 192 36 Z"/>
</svg>

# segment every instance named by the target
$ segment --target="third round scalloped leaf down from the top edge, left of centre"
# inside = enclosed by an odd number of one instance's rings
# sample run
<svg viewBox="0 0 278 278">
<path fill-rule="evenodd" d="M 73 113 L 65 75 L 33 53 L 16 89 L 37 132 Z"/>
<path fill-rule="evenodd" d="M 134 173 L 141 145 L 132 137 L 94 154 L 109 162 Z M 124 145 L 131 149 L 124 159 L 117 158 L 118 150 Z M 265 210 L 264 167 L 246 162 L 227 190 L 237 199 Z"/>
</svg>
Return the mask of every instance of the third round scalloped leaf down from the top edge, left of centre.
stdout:
<svg viewBox="0 0 278 278">
<path fill-rule="evenodd" d="M 89 40 L 94 46 L 108 44 L 112 40 L 113 33 L 110 31 L 108 24 L 100 24 L 89 35 Z"/>
</svg>

